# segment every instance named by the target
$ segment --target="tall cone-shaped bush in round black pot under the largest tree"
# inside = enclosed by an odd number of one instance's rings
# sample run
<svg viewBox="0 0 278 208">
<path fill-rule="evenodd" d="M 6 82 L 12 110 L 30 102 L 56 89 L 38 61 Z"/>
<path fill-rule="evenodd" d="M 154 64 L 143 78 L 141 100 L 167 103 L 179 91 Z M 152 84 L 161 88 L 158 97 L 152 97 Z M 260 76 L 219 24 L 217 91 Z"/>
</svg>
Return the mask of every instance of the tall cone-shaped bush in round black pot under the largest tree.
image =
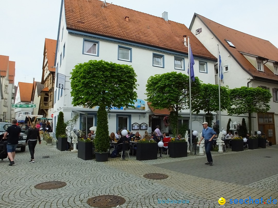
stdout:
<svg viewBox="0 0 278 208">
<path fill-rule="evenodd" d="M 95 152 L 104 153 L 110 147 L 109 131 L 108 131 L 108 118 L 104 104 L 100 104 L 97 113 L 98 120 L 96 122 L 96 137 L 94 139 Z"/>
</svg>

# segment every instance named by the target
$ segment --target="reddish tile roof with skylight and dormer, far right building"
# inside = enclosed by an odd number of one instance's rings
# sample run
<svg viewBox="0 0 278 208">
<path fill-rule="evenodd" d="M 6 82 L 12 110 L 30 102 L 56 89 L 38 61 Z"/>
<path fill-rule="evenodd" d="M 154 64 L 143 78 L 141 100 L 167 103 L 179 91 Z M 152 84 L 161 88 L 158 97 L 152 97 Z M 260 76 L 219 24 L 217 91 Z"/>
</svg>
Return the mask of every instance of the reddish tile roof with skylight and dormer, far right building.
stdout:
<svg viewBox="0 0 278 208">
<path fill-rule="evenodd" d="M 218 24 L 199 14 L 201 21 L 214 33 L 214 35 L 222 42 L 224 47 L 235 57 L 235 59 L 247 70 L 252 76 L 278 80 L 269 68 L 264 65 L 264 72 L 258 71 L 240 52 L 256 55 L 273 61 L 278 61 L 278 49 L 268 40 L 264 40 L 224 25 Z M 230 47 L 225 41 L 229 40 L 234 44 L 235 48 Z"/>
</svg>

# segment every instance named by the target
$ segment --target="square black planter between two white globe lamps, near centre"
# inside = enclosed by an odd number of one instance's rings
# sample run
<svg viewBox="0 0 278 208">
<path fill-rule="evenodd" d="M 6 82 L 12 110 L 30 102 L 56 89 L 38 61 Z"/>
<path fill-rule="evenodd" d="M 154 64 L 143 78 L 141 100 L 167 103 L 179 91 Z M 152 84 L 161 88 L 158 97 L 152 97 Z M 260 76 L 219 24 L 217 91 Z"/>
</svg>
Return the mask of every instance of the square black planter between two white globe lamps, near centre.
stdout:
<svg viewBox="0 0 278 208">
<path fill-rule="evenodd" d="M 137 143 L 136 160 L 157 159 L 157 143 Z"/>
</svg>

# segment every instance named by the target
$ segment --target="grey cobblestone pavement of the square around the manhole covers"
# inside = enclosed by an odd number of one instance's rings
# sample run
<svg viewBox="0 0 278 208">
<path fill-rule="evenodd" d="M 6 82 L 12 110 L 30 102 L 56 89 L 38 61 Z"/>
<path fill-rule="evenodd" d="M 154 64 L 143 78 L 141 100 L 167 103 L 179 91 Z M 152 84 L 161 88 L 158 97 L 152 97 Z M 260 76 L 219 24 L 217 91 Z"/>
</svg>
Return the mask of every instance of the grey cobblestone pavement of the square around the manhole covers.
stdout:
<svg viewBox="0 0 278 208">
<path fill-rule="evenodd" d="M 41 144 L 36 146 L 35 163 L 28 163 L 27 149 L 16 152 L 13 166 L 8 166 L 8 159 L 0 161 L 0 207 L 89 208 L 90 197 L 105 194 L 125 198 L 125 204 L 119 206 L 125 208 L 219 207 L 220 197 L 226 199 L 226 208 L 276 207 L 273 203 L 229 203 L 230 199 L 249 197 L 262 197 L 263 202 L 270 197 L 272 201 L 278 199 L 276 146 L 244 152 L 213 152 L 214 165 L 206 166 L 205 156 L 193 155 L 185 158 L 163 155 L 152 161 L 136 161 L 135 156 L 126 161 L 119 158 L 104 163 L 83 161 L 77 158 L 77 153 Z M 169 177 L 151 180 L 143 177 L 146 173 L 164 173 Z M 63 181 L 67 185 L 52 190 L 34 188 L 47 181 Z M 162 203 L 167 199 L 188 203 Z"/>
</svg>

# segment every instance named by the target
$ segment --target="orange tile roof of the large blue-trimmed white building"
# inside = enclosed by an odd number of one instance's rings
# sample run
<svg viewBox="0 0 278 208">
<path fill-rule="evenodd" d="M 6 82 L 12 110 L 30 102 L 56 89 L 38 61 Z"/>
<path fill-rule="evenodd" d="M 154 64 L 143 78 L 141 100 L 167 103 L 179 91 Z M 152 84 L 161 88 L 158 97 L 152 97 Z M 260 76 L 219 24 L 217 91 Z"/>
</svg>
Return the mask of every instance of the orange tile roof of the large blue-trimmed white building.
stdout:
<svg viewBox="0 0 278 208">
<path fill-rule="evenodd" d="M 103 1 L 98 0 L 64 0 L 64 5 L 67 29 L 185 54 L 188 54 L 188 48 L 184 46 L 183 35 L 187 35 L 193 55 L 216 60 L 184 24 L 114 4 L 102 8 Z"/>
</svg>

